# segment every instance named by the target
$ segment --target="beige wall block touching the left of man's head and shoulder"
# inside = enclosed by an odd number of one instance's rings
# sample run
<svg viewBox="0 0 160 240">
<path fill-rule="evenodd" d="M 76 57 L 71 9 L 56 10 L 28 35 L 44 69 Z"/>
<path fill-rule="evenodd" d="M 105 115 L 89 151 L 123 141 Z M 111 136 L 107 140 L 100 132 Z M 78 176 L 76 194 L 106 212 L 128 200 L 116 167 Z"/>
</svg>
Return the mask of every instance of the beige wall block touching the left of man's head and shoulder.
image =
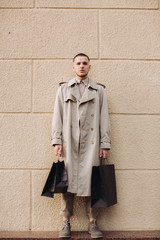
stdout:
<svg viewBox="0 0 160 240">
<path fill-rule="evenodd" d="M 33 111 L 53 112 L 59 83 L 74 77 L 72 60 L 35 61 L 34 70 Z"/>
</svg>

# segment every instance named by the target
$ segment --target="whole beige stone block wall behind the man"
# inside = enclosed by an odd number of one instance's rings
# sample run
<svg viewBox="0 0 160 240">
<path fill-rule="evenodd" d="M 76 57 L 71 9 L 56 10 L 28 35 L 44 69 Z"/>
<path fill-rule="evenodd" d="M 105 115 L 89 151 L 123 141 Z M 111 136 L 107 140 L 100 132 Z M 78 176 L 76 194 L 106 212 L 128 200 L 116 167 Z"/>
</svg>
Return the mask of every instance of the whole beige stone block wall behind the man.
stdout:
<svg viewBox="0 0 160 240">
<path fill-rule="evenodd" d="M 55 159 L 51 121 L 72 57 L 106 85 L 118 204 L 103 230 L 160 229 L 160 2 L 0 0 L 0 230 L 56 231 L 60 196 L 41 197 Z M 87 230 L 76 198 L 72 230 Z"/>
</svg>

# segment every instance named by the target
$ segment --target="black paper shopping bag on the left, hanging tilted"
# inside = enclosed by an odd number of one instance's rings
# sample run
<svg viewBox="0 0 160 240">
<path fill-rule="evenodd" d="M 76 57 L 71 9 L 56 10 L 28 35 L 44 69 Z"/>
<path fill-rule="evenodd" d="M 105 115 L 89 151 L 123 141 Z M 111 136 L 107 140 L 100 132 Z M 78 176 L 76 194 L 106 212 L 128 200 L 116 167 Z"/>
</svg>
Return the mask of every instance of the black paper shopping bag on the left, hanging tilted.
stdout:
<svg viewBox="0 0 160 240">
<path fill-rule="evenodd" d="M 54 193 L 67 192 L 68 181 L 64 161 L 54 162 L 41 196 L 54 198 Z"/>
</svg>

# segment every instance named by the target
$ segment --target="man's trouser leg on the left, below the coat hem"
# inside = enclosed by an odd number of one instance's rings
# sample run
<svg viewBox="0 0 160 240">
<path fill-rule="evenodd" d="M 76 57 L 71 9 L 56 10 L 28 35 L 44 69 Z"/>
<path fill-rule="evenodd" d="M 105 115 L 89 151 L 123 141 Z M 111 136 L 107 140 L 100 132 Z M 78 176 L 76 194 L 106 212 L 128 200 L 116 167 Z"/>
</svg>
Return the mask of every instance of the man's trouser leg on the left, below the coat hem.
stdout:
<svg viewBox="0 0 160 240">
<path fill-rule="evenodd" d="M 61 196 L 61 211 L 60 215 L 65 218 L 70 218 L 73 215 L 73 193 L 64 193 Z"/>
</svg>

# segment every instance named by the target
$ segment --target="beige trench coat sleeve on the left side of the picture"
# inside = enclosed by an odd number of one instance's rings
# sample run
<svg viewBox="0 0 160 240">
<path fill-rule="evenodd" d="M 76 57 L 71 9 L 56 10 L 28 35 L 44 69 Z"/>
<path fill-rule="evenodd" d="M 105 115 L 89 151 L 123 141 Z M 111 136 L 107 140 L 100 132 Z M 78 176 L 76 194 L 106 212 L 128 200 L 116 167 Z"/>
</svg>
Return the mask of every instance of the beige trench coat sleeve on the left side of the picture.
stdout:
<svg viewBox="0 0 160 240">
<path fill-rule="evenodd" d="M 62 89 L 59 87 L 54 104 L 52 120 L 52 146 L 62 145 L 62 124 L 63 124 L 63 98 Z"/>
</svg>

